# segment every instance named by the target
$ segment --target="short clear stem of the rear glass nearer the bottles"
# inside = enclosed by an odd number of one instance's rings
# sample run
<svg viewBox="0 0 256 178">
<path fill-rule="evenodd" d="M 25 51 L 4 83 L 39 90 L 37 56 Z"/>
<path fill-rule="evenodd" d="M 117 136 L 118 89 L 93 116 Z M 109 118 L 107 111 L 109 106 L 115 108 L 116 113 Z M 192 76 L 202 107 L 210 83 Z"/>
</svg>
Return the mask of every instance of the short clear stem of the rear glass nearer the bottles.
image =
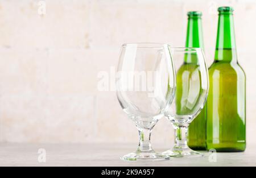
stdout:
<svg viewBox="0 0 256 178">
<path fill-rule="evenodd" d="M 175 129 L 175 148 L 187 149 L 187 131 L 188 127 L 176 127 Z"/>
</svg>

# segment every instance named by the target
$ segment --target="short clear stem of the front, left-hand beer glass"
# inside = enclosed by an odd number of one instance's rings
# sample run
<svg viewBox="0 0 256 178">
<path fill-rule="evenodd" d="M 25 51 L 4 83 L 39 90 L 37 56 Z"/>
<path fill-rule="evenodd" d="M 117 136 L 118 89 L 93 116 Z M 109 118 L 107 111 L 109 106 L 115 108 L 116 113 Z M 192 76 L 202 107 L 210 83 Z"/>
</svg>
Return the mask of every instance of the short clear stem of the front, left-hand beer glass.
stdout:
<svg viewBox="0 0 256 178">
<path fill-rule="evenodd" d="M 148 152 L 152 151 L 150 136 L 152 129 L 139 129 L 139 146 L 137 151 Z"/>
</svg>

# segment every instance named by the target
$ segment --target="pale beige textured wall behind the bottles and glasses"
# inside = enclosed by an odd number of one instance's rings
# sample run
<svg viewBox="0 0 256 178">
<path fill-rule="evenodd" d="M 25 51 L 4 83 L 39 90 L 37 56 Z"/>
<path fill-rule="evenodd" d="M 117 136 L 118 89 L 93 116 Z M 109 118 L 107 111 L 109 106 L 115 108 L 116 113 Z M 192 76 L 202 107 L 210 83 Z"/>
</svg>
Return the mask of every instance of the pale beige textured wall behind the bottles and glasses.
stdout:
<svg viewBox="0 0 256 178">
<path fill-rule="evenodd" d="M 233 6 L 238 60 L 247 76 L 247 142 L 256 142 L 255 1 L 0 1 L 0 142 L 137 142 L 114 92 L 97 74 L 117 65 L 129 42 L 185 43 L 186 13 L 203 11 L 208 65 L 218 6 Z M 173 142 L 162 119 L 154 144 Z"/>
</svg>

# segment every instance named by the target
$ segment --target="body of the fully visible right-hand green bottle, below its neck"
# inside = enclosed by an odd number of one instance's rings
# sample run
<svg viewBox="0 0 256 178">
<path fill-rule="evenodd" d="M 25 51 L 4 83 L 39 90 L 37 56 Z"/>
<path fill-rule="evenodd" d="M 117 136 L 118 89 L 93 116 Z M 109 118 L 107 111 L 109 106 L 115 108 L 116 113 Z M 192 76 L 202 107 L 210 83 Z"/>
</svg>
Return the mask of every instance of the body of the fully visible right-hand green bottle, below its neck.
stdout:
<svg viewBox="0 0 256 178">
<path fill-rule="evenodd" d="M 207 149 L 244 151 L 245 73 L 237 63 L 217 62 L 209 68 Z"/>
</svg>

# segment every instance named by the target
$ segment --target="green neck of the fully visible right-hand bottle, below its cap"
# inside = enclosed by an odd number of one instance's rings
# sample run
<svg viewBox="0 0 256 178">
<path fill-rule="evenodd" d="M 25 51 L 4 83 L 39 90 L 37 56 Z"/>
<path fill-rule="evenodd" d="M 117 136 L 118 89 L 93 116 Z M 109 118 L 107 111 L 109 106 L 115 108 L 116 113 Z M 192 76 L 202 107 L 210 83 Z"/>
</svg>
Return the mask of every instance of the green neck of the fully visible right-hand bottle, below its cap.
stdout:
<svg viewBox="0 0 256 178">
<path fill-rule="evenodd" d="M 233 15 L 222 12 L 218 16 L 218 31 L 215 61 L 237 62 L 236 39 L 234 35 Z"/>
</svg>

